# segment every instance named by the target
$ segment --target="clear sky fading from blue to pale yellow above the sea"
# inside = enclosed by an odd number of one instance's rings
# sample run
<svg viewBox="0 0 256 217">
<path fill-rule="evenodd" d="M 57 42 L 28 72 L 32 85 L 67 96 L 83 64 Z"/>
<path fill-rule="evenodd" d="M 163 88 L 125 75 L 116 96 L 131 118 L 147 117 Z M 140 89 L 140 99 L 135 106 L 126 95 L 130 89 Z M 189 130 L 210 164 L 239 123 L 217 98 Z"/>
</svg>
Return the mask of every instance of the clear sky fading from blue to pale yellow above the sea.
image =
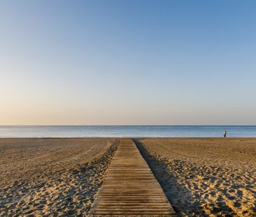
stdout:
<svg viewBox="0 0 256 217">
<path fill-rule="evenodd" d="M 0 1 L 0 125 L 256 124 L 256 1 Z"/>
</svg>

